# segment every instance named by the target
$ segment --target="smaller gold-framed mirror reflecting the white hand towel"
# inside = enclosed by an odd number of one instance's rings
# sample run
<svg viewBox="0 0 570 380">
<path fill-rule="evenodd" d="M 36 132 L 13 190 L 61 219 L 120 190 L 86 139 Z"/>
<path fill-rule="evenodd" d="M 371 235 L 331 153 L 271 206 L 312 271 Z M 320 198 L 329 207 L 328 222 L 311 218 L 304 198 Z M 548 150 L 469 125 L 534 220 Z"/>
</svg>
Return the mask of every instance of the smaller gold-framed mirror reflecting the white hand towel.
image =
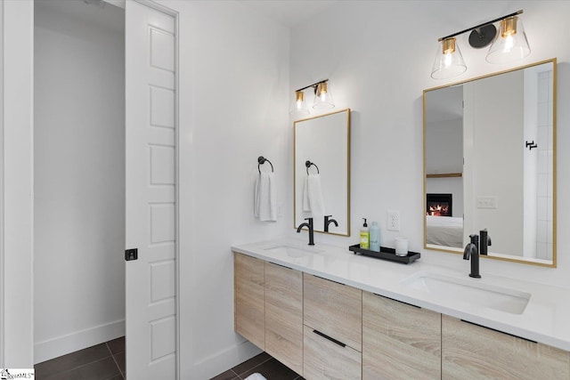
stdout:
<svg viewBox="0 0 570 380">
<path fill-rule="evenodd" d="M 297 120 L 293 132 L 293 228 L 312 217 L 315 232 L 350 236 L 350 109 Z"/>
</svg>

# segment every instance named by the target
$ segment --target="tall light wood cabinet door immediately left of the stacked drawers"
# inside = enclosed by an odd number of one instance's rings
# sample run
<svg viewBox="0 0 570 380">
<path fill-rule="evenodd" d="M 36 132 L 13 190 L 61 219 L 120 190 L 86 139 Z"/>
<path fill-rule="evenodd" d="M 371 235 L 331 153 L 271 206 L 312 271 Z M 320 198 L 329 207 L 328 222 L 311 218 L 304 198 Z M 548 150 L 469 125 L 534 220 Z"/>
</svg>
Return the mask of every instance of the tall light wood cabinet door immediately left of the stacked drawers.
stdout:
<svg viewBox="0 0 570 380">
<path fill-rule="evenodd" d="M 265 263 L 265 352 L 303 374 L 303 277 Z"/>
</svg>

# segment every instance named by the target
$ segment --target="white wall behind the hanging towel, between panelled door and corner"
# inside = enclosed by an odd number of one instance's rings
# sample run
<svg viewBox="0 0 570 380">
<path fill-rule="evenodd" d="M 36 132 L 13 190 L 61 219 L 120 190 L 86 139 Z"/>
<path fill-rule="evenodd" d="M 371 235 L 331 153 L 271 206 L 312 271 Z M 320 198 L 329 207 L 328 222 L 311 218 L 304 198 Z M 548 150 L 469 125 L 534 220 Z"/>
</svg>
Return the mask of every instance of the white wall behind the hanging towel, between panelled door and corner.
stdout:
<svg viewBox="0 0 570 380">
<path fill-rule="evenodd" d="M 235 1 L 164 1 L 179 12 L 180 378 L 258 352 L 233 331 L 230 247 L 293 224 L 289 29 Z M 273 163 L 281 216 L 253 214 L 257 157 Z"/>
</svg>

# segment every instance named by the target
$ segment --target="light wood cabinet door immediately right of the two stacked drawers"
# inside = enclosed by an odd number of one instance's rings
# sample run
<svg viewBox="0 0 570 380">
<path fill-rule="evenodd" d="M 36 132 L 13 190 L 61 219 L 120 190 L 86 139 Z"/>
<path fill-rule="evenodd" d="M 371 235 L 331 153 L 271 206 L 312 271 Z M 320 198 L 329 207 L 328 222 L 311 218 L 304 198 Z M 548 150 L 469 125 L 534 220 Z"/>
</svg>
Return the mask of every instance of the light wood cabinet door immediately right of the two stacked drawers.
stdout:
<svg viewBox="0 0 570 380">
<path fill-rule="evenodd" d="M 362 292 L 362 379 L 441 378 L 441 314 Z"/>
</svg>

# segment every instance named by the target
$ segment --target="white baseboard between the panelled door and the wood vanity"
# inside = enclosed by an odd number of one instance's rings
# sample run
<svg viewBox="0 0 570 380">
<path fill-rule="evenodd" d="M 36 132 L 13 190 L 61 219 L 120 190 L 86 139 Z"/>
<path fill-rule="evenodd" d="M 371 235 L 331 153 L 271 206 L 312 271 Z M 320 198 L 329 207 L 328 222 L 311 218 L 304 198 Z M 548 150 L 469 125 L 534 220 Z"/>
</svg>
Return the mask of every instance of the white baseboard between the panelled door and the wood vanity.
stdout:
<svg viewBox="0 0 570 380">
<path fill-rule="evenodd" d="M 209 379 L 253 358 L 260 352 L 262 351 L 254 344 L 249 343 L 249 341 L 243 341 L 228 347 L 222 352 L 217 352 L 215 355 L 195 362 L 193 368 L 191 368 L 191 373 L 186 374 L 188 375 L 186 377 L 182 374 L 180 378 Z"/>
</svg>

